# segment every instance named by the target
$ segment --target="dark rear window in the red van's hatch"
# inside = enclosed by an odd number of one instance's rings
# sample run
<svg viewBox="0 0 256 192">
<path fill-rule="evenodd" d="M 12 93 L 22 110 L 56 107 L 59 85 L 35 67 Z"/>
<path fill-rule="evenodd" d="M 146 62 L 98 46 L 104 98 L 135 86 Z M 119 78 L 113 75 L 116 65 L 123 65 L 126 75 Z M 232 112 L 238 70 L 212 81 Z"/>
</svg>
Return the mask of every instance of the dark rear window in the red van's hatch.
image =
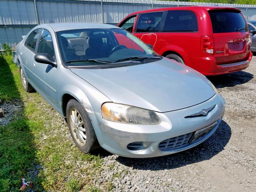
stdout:
<svg viewBox="0 0 256 192">
<path fill-rule="evenodd" d="M 246 32 L 247 27 L 240 12 L 230 10 L 209 11 L 213 33 Z"/>
</svg>

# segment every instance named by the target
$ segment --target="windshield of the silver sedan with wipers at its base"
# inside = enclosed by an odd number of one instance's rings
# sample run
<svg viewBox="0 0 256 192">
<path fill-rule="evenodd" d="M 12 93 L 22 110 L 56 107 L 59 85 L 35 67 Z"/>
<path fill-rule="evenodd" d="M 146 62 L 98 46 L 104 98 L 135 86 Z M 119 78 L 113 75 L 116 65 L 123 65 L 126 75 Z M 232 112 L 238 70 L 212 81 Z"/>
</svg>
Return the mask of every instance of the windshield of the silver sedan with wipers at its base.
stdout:
<svg viewBox="0 0 256 192">
<path fill-rule="evenodd" d="M 160 57 L 148 45 L 123 29 L 78 29 L 56 34 L 62 60 L 67 66 Z"/>
</svg>

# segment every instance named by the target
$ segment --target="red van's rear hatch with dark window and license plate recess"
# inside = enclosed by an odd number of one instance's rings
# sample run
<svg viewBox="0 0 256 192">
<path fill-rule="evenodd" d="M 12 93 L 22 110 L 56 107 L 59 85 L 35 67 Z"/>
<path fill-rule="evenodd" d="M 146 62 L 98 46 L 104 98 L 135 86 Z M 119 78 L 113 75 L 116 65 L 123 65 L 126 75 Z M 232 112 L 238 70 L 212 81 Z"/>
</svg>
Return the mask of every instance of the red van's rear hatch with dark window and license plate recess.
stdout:
<svg viewBox="0 0 256 192">
<path fill-rule="evenodd" d="M 209 10 L 214 37 L 216 64 L 247 60 L 250 34 L 240 10 Z"/>
</svg>

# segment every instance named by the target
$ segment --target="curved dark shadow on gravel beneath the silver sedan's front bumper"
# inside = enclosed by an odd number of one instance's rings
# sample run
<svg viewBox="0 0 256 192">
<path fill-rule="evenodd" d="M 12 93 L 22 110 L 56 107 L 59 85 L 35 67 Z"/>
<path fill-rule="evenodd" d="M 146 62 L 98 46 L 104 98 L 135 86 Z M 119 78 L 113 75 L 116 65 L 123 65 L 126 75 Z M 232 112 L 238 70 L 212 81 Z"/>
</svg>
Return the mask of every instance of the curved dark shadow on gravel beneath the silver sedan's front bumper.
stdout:
<svg viewBox="0 0 256 192">
<path fill-rule="evenodd" d="M 231 137 L 230 126 L 222 120 L 216 132 L 202 144 L 189 150 L 155 158 L 125 158 L 116 160 L 126 166 L 140 170 L 174 169 L 188 164 L 209 160 L 222 150 Z"/>
</svg>

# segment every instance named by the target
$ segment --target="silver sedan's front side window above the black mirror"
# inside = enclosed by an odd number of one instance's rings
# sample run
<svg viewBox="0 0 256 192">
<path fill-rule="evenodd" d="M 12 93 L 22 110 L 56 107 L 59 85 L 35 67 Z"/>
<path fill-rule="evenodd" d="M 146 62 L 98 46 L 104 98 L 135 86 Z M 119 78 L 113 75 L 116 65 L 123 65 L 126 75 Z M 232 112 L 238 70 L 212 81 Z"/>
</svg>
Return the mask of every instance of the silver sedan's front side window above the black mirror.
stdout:
<svg viewBox="0 0 256 192">
<path fill-rule="evenodd" d="M 52 36 L 50 32 L 44 30 L 39 40 L 38 53 L 48 53 L 50 56 L 54 56 L 54 48 L 52 42 Z"/>
</svg>

